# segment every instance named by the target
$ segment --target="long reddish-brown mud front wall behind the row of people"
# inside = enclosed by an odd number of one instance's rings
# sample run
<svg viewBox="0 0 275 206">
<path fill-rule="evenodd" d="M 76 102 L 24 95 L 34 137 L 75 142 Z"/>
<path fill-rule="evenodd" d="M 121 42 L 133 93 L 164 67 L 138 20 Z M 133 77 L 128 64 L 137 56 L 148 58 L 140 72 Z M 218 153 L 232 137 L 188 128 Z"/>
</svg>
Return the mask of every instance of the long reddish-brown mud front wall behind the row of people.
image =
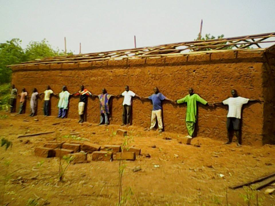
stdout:
<svg viewBox="0 0 275 206">
<path fill-rule="evenodd" d="M 17 89 L 25 87 L 30 94 L 34 87 L 43 92 L 48 84 L 55 93 L 61 91 L 62 85 L 66 85 L 68 91 L 73 93 L 84 84 L 93 94 L 100 94 L 101 89 L 106 88 L 109 94 L 117 95 L 124 91 L 125 85 L 129 85 L 130 90 L 139 96 L 149 96 L 153 88 L 158 86 L 160 92 L 173 100 L 188 94 L 189 87 L 209 102 L 221 102 L 231 96 L 232 89 L 236 89 L 239 96 L 251 99 L 274 99 L 274 95 L 264 94 L 264 87 L 269 82 L 268 75 L 263 78 L 267 73 L 265 64 L 264 51 L 232 50 L 159 58 L 16 66 L 12 68 L 12 82 Z M 123 98 L 111 99 L 111 124 L 121 124 L 122 101 Z M 52 115 L 58 113 L 57 104 L 58 98 L 52 97 Z M 77 105 L 78 98 L 71 98 L 68 118 L 78 118 Z M 197 135 L 226 141 L 227 106 L 213 109 L 198 105 Z M 27 112 L 30 112 L 29 108 L 28 101 Z M 99 100 L 89 98 L 87 108 L 87 120 L 99 122 Z M 132 123 L 148 127 L 152 103 L 134 98 L 132 108 Z M 260 145 L 263 135 L 269 135 L 268 129 L 264 130 L 264 121 L 266 118 L 271 120 L 273 113 L 270 109 L 264 103 L 249 103 L 243 107 L 244 144 Z M 173 105 L 164 101 L 165 131 L 186 135 L 185 112 L 186 104 Z M 42 100 L 38 102 L 38 114 L 43 114 Z M 270 127 L 270 123 L 266 127 Z"/>
</svg>

